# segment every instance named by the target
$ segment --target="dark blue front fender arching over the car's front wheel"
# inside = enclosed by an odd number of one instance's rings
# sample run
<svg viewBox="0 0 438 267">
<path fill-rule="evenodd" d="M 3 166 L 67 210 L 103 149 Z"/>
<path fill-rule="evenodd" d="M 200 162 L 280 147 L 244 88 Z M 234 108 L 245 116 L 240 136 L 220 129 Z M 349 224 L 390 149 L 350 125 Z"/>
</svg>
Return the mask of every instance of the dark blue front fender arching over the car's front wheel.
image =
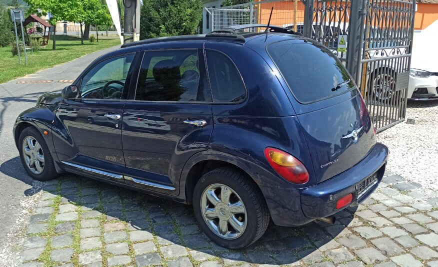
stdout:
<svg viewBox="0 0 438 267">
<path fill-rule="evenodd" d="M 52 158 L 57 161 L 56 152 L 53 146 L 52 122 L 55 118 L 56 106 L 37 104 L 36 106 L 23 111 L 15 120 L 12 134 L 15 140 L 15 146 L 18 149 L 18 138 L 21 131 L 27 126 L 35 127 L 50 151 Z M 47 135 L 43 132 L 47 131 Z"/>
</svg>

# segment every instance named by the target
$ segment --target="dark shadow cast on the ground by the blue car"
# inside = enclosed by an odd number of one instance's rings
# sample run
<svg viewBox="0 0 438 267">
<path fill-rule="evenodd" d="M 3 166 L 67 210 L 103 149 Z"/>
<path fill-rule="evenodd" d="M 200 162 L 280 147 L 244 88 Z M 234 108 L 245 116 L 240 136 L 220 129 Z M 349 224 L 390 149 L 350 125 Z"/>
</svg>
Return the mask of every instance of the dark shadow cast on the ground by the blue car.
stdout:
<svg viewBox="0 0 438 267">
<path fill-rule="evenodd" d="M 1 164 L 0 171 L 31 184 L 31 178 L 24 173 L 18 157 Z M 61 205 L 70 203 L 81 207 L 82 220 L 92 219 L 94 214 L 102 220 L 105 218 L 108 229 L 114 227 L 114 223 L 122 222 L 125 225 L 124 229 L 112 230 L 128 233 L 141 231 L 143 233 L 136 234 L 148 236 L 152 234 L 156 237 L 154 243 L 159 247 L 184 246 L 190 249 L 189 255 L 198 262 L 211 260 L 224 265 L 241 262 L 289 265 L 298 264 L 298 261 L 304 264 L 323 261 L 321 251 L 339 246 L 334 238 L 349 234 L 345 226 L 354 224 L 353 214 L 356 211 L 356 208 L 341 211 L 333 225 L 320 222 L 300 227 L 278 227 L 270 223 L 266 233 L 251 246 L 229 250 L 214 244 L 202 233 L 193 216 L 192 208 L 188 205 L 74 174 L 62 174 L 59 178 L 45 182 L 43 190 L 48 192 L 43 193 L 43 199 L 53 194 L 59 196 Z M 105 232 L 105 229 L 104 224 L 101 229 L 103 240 L 110 232 Z M 128 234 L 126 238 L 129 239 L 131 235 Z M 148 241 L 134 241 L 144 242 Z M 155 252 L 159 251 L 159 248 L 156 248 Z M 187 255 L 187 252 L 182 251 L 181 254 Z"/>
</svg>

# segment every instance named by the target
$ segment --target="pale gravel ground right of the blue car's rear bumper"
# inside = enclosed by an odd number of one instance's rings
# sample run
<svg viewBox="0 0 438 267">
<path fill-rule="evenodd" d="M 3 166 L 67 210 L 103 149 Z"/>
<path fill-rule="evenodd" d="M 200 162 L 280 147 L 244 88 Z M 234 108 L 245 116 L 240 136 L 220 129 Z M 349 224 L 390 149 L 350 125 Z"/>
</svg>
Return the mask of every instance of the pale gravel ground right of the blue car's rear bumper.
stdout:
<svg viewBox="0 0 438 267">
<path fill-rule="evenodd" d="M 415 124 L 399 123 L 379 134 L 377 141 L 389 147 L 387 165 L 392 173 L 438 189 L 438 101 L 408 102 L 406 118 Z"/>
</svg>

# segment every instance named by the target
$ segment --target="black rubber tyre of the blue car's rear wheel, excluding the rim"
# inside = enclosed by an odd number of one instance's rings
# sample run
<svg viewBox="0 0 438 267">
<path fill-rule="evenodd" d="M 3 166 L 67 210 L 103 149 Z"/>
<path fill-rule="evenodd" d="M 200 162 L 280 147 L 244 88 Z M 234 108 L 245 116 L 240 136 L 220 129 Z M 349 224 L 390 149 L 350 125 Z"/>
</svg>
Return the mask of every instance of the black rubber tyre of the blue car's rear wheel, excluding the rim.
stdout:
<svg viewBox="0 0 438 267">
<path fill-rule="evenodd" d="M 246 209 L 246 228 L 235 239 L 230 240 L 217 236 L 210 230 L 203 218 L 201 212 L 202 194 L 207 187 L 216 183 L 234 190 Z M 257 241 L 266 231 L 270 219 L 266 202 L 256 184 L 238 170 L 230 167 L 214 169 L 199 179 L 193 192 L 193 210 L 205 235 L 217 245 L 228 249 L 240 249 Z"/>
</svg>

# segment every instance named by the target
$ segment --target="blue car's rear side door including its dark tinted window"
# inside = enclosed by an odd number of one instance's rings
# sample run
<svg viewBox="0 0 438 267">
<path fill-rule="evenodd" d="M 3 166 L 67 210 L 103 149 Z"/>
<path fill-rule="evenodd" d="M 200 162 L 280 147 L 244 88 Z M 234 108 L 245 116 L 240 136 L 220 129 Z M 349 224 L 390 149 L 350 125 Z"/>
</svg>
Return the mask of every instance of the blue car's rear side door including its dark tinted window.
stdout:
<svg viewBox="0 0 438 267">
<path fill-rule="evenodd" d="M 203 50 L 146 50 L 129 98 L 122 122 L 125 183 L 177 195 L 183 165 L 208 148 L 213 129 Z"/>
</svg>

